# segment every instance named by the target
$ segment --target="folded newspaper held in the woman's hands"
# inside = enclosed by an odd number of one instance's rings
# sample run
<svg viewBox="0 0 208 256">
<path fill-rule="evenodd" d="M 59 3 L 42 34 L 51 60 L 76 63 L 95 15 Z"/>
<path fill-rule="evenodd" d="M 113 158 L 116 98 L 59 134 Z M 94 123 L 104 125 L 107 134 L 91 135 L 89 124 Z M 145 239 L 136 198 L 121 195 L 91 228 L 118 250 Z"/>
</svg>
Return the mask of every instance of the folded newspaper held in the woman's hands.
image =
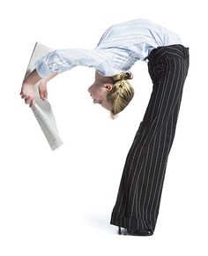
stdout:
<svg viewBox="0 0 208 256">
<path fill-rule="evenodd" d="M 40 42 L 35 43 L 33 54 L 26 69 L 25 79 L 35 69 L 36 61 L 42 56 L 46 56 L 48 52 L 51 52 L 52 50 L 53 49 L 49 49 Z M 63 144 L 63 141 L 57 130 L 56 119 L 48 100 L 41 100 L 38 85 L 35 85 L 35 103 L 31 106 L 31 109 L 33 110 L 34 117 L 41 126 L 42 132 L 48 140 L 50 148 L 55 150 L 60 147 Z"/>
</svg>

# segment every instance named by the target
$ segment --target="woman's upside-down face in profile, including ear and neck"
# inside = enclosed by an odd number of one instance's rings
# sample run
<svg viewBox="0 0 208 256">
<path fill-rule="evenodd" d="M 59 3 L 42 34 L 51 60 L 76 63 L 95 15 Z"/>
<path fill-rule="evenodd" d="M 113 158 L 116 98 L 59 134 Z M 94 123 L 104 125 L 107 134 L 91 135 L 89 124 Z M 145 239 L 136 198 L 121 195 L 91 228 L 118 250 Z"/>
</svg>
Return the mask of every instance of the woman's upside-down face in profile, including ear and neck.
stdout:
<svg viewBox="0 0 208 256">
<path fill-rule="evenodd" d="M 111 109 L 111 104 L 107 102 L 107 94 L 113 88 L 112 79 L 103 77 L 98 72 L 95 72 L 95 81 L 88 92 L 93 98 L 93 103 L 99 103 L 104 109 Z"/>
</svg>

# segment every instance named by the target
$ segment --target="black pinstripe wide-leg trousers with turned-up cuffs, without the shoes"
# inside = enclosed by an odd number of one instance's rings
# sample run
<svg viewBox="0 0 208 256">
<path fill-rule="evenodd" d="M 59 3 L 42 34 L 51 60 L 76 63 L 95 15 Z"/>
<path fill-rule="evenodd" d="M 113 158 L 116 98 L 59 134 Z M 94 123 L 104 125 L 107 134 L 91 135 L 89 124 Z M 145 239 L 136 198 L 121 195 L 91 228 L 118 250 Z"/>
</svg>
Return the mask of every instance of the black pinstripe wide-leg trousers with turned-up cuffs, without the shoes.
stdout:
<svg viewBox="0 0 208 256">
<path fill-rule="evenodd" d="M 124 164 L 110 224 L 154 231 L 189 70 L 189 48 L 175 44 L 153 49 L 148 60 L 152 94 Z"/>
</svg>

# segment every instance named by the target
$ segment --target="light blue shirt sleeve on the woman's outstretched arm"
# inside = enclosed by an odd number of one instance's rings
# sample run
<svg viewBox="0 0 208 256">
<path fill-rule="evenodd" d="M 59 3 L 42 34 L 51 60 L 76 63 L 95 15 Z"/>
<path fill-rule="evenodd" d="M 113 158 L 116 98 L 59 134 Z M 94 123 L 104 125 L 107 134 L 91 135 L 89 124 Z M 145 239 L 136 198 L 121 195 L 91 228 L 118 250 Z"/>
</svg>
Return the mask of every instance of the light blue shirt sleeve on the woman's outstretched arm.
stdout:
<svg viewBox="0 0 208 256">
<path fill-rule="evenodd" d="M 39 59 L 36 71 L 41 78 L 53 72 L 66 72 L 74 66 L 94 67 L 101 74 L 108 74 L 110 66 L 108 56 L 99 49 L 56 49 Z"/>
</svg>

